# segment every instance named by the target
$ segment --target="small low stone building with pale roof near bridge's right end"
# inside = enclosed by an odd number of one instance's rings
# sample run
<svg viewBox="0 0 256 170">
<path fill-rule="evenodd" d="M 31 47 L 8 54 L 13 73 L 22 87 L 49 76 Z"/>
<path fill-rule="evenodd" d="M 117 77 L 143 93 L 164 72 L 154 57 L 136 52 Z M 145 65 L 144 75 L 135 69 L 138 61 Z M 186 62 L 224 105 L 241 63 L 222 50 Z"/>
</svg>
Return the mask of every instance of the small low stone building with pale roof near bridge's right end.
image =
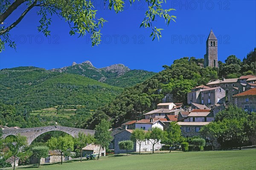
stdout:
<svg viewBox="0 0 256 170">
<path fill-rule="evenodd" d="M 90 155 L 91 153 L 93 153 L 93 155 L 96 156 L 106 156 L 106 148 L 105 147 L 100 147 L 99 145 L 96 144 L 89 144 L 86 147 L 84 147 L 83 149 L 83 157 L 85 157 L 86 155 Z"/>
</svg>

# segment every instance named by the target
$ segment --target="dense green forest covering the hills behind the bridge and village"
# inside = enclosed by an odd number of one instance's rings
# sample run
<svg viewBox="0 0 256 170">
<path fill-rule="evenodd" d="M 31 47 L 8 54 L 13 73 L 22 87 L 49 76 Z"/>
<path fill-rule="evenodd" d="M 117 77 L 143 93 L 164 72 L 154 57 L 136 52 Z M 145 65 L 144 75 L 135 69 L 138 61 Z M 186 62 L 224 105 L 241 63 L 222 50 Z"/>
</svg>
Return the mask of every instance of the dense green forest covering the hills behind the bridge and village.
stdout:
<svg viewBox="0 0 256 170">
<path fill-rule="evenodd" d="M 203 63 L 203 59 L 194 57 L 180 58 L 171 66 L 163 66 L 163 71 L 152 74 L 144 82 L 125 89 L 116 86 L 131 86 L 132 76 L 136 80 L 140 76 L 149 76 L 148 73 L 130 70 L 118 77 L 114 75 L 120 74 L 120 70 L 119 73 L 113 71 L 105 80 L 115 85 L 111 86 L 74 72 L 67 74 L 36 67 L 2 69 L 0 124 L 36 127 L 57 121 L 62 126 L 94 129 L 99 121 L 107 119 L 117 127 L 123 121 L 141 118 L 144 112 L 156 108 L 168 93 L 173 94 L 174 102 L 186 104 L 186 94 L 195 86 L 218 78 L 256 74 L 256 49 L 249 52 L 243 61 L 234 55 L 227 57 L 224 63 L 219 61 L 219 68 L 203 68 Z M 76 109 L 75 114 L 67 117 L 30 114 L 54 106 L 57 109 Z"/>
</svg>

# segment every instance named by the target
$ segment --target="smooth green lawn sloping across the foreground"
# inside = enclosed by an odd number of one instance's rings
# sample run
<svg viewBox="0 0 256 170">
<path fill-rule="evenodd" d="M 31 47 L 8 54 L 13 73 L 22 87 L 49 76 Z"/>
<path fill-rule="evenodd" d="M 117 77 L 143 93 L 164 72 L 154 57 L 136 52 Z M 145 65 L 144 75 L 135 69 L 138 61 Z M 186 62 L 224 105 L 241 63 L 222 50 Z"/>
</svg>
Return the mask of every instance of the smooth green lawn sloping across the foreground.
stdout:
<svg viewBox="0 0 256 170">
<path fill-rule="evenodd" d="M 19 167 L 38 170 L 35 165 Z M 172 152 L 108 156 L 97 160 L 44 164 L 40 170 L 255 170 L 256 150 Z"/>
</svg>

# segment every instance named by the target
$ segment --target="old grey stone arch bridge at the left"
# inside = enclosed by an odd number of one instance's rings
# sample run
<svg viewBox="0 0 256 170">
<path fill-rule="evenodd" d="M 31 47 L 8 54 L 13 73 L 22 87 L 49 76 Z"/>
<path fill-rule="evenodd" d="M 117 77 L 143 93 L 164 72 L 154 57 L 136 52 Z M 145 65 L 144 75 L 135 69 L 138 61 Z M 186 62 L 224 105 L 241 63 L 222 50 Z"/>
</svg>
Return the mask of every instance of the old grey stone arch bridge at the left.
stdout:
<svg viewBox="0 0 256 170">
<path fill-rule="evenodd" d="M 65 132 L 73 137 L 76 137 L 79 132 L 85 134 L 93 135 L 95 133 L 94 130 L 87 129 L 79 129 L 73 127 L 63 127 L 63 126 L 46 126 L 46 127 L 32 127 L 32 128 L 22 128 L 22 129 L 8 129 L 3 130 L 2 138 L 6 138 L 9 135 L 17 135 L 20 134 L 22 136 L 26 136 L 27 143 L 30 145 L 32 141 L 35 140 L 39 135 L 50 132 L 50 131 L 61 131 Z"/>
</svg>

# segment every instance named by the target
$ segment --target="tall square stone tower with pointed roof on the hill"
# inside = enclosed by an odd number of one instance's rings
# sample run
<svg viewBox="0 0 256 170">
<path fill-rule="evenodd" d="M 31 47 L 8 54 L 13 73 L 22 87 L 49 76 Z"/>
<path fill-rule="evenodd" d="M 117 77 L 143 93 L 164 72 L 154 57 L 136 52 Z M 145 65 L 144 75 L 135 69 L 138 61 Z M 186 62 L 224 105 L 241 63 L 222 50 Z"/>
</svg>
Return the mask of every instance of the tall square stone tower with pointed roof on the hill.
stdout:
<svg viewBox="0 0 256 170">
<path fill-rule="evenodd" d="M 206 41 L 206 54 L 204 55 L 204 67 L 207 66 L 218 68 L 218 40 L 212 29 Z"/>
</svg>

